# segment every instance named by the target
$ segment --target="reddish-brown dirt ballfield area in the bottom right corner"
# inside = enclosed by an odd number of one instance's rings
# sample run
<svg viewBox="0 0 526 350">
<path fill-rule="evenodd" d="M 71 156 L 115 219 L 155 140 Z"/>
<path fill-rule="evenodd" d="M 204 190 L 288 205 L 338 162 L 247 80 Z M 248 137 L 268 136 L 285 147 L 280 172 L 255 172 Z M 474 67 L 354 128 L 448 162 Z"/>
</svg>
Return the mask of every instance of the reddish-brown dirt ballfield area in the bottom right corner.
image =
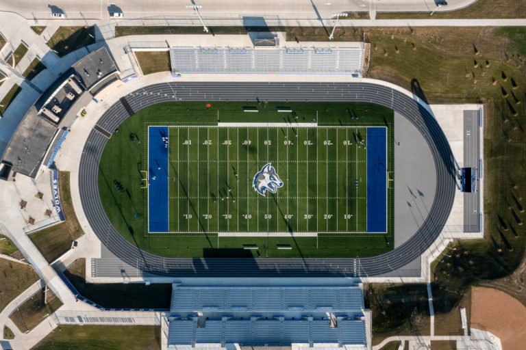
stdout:
<svg viewBox="0 0 526 350">
<path fill-rule="evenodd" d="M 471 290 L 471 327 L 501 338 L 503 349 L 523 349 L 526 344 L 526 307 L 493 288 Z"/>
</svg>

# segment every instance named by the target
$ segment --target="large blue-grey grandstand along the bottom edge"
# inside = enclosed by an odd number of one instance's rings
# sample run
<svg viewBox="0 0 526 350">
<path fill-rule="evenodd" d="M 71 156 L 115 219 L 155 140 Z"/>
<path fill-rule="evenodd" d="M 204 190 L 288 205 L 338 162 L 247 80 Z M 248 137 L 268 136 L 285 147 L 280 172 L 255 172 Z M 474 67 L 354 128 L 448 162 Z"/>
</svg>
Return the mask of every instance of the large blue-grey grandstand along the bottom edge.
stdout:
<svg viewBox="0 0 526 350">
<path fill-rule="evenodd" d="M 168 349 L 331 344 L 366 348 L 358 286 L 173 285 Z"/>
</svg>

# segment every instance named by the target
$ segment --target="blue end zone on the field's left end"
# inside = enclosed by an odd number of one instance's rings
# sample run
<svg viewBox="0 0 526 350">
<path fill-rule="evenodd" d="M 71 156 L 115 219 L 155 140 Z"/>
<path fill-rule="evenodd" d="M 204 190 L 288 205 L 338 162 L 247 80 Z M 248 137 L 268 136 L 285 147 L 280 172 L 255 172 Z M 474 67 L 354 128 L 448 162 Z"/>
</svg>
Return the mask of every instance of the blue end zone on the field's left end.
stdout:
<svg viewBox="0 0 526 350">
<path fill-rule="evenodd" d="M 168 128 L 148 128 L 148 231 L 168 232 Z"/>
</svg>

